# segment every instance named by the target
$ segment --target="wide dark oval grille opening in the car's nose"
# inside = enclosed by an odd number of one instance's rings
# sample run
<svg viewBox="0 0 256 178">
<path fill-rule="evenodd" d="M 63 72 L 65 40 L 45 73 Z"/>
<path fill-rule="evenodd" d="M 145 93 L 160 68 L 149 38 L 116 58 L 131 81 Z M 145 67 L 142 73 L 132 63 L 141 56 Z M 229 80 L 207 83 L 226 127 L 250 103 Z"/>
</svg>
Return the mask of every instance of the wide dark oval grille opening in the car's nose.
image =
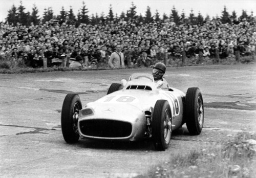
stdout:
<svg viewBox="0 0 256 178">
<path fill-rule="evenodd" d="M 101 138 L 128 137 L 132 133 L 132 124 L 114 120 L 84 120 L 80 123 L 83 135 Z"/>
</svg>

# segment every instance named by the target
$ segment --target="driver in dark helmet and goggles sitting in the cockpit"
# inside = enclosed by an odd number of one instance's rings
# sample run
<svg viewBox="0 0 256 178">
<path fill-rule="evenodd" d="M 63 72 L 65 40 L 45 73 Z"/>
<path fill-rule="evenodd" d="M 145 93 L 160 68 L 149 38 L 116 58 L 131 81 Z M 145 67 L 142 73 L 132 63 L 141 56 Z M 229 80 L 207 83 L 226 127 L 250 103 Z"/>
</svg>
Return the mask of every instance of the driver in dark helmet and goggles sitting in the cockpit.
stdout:
<svg viewBox="0 0 256 178">
<path fill-rule="evenodd" d="M 161 88 L 164 90 L 168 90 L 169 85 L 168 85 L 167 81 L 163 78 L 165 70 L 166 70 L 166 66 L 164 63 L 162 63 L 162 62 L 156 63 L 153 67 L 153 77 L 154 77 L 155 82 L 162 80 L 163 85 Z"/>
</svg>

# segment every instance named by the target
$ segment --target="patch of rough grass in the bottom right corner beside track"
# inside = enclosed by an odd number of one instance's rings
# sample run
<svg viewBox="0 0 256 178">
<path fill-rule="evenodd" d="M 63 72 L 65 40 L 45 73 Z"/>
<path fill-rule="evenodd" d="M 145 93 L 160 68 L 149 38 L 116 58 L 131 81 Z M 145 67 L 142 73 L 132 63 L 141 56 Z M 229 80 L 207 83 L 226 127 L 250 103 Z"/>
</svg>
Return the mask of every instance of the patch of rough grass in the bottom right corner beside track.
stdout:
<svg viewBox="0 0 256 178">
<path fill-rule="evenodd" d="M 240 132 L 234 138 L 187 154 L 172 155 L 154 166 L 147 177 L 255 177 L 256 136 Z"/>
</svg>

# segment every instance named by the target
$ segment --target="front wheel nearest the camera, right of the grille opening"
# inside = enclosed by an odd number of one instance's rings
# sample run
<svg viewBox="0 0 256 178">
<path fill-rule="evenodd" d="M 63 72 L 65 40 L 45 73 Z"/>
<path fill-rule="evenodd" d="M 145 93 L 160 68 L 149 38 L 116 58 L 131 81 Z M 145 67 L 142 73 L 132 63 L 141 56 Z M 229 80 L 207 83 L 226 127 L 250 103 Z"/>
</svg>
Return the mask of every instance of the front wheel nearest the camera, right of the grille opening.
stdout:
<svg viewBox="0 0 256 178">
<path fill-rule="evenodd" d="M 166 100 L 158 100 L 154 107 L 152 119 L 152 138 L 156 150 L 168 148 L 172 137 L 172 115 Z"/>
</svg>

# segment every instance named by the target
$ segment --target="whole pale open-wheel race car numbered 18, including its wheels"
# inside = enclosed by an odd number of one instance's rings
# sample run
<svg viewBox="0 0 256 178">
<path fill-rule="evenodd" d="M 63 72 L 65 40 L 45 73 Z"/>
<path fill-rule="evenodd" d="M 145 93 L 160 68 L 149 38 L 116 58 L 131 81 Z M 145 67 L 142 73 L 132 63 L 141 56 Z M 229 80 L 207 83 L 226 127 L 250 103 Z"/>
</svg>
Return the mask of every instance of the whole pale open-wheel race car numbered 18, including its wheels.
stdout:
<svg viewBox="0 0 256 178">
<path fill-rule="evenodd" d="M 199 135 L 204 123 L 203 97 L 198 87 L 182 91 L 162 86 L 151 74 L 133 74 L 111 84 L 106 96 L 82 108 L 77 94 L 68 94 L 61 112 L 62 135 L 67 143 L 79 138 L 137 141 L 153 139 L 157 150 L 167 149 L 172 131 L 186 123 Z"/>
</svg>

